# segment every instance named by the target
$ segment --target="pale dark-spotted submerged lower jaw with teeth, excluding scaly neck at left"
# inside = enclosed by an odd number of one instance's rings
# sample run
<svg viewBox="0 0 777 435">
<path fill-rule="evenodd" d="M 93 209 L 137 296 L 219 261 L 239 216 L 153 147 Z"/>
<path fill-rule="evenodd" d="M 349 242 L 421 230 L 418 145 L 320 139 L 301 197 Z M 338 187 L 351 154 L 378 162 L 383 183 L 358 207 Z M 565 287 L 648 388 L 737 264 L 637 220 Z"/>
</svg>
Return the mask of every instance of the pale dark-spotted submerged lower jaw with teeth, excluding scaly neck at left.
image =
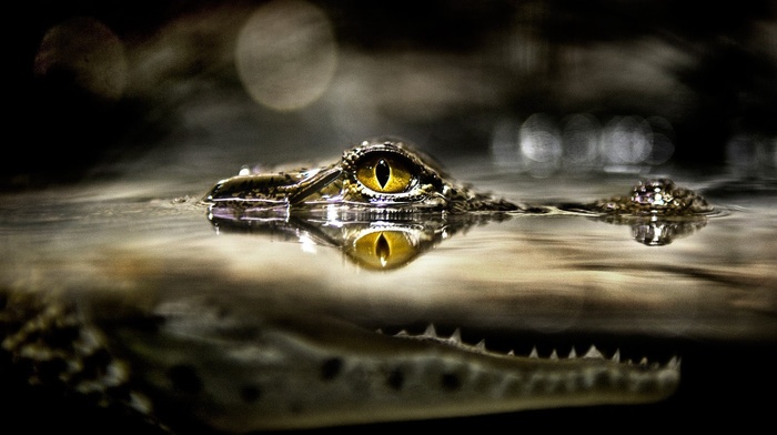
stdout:
<svg viewBox="0 0 777 435">
<path fill-rule="evenodd" d="M 229 432 L 646 403 L 679 382 L 676 360 L 635 365 L 593 347 L 582 357 L 522 357 L 433 330 L 387 336 L 291 317 L 209 330 L 202 320 L 171 317 L 161 335 L 124 331 L 121 340 L 143 362 L 152 402 Z M 184 367 L 198 387 L 171 387 L 171 367 Z"/>
</svg>

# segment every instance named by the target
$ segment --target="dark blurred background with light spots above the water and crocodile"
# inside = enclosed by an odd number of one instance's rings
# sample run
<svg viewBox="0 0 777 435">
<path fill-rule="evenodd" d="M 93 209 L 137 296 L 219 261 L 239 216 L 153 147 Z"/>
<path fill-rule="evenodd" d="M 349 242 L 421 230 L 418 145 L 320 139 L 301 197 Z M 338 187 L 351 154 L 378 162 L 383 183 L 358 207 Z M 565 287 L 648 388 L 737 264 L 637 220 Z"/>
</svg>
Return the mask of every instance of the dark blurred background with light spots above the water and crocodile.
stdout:
<svg viewBox="0 0 777 435">
<path fill-rule="evenodd" d="M 776 1 L 23 8 L 4 190 L 139 168 L 226 176 L 384 134 L 541 178 L 777 168 Z"/>
</svg>

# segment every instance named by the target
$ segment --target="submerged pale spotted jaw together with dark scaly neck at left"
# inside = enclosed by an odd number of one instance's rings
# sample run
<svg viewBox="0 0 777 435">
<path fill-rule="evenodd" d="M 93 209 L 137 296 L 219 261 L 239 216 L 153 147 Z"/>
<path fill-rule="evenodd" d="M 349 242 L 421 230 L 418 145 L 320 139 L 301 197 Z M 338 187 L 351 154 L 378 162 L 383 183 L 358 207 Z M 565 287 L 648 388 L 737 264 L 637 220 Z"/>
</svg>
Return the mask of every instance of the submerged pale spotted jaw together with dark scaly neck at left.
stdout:
<svg viewBox="0 0 777 435">
<path fill-rule="evenodd" d="M 3 313 L 16 325 L 3 350 L 18 364 L 48 367 L 48 377 L 32 370 L 30 382 L 124 407 L 160 427 L 244 433 L 649 403 L 679 382 L 676 358 L 633 364 L 593 346 L 582 356 L 574 348 L 567 357 L 541 357 L 536 348 L 516 356 L 466 344 L 458 331 L 438 335 L 432 325 L 390 335 L 199 297 L 161 302 L 145 314 L 22 304 L 16 300 L 19 318 Z"/>
</svg>

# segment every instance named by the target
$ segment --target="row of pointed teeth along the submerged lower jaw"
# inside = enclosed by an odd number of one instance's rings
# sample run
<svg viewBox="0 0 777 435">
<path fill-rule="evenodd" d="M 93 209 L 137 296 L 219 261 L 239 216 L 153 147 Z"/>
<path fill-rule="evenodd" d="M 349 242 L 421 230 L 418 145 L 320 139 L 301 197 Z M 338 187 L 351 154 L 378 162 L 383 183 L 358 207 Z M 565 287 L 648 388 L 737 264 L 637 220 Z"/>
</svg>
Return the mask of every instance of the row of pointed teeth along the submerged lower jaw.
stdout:
<svg viewBox="0 0 777 435">
<path fill-rule="evenodd" d="M 377 330 L 379 333 L 383 333 L 383 331 Z M 486 353 L 488 352 L 485 346 L 485 340 L 481 340 L 477 344 L 474 346 L 467 343 L 464 343 L 462 341 L 462 332 L 460 328 L 456 328 L 453 334 L 448 337 L 442 337 L 437 335 L 437 331 L 434 328 L 433 324 L 430 324 L 426 326 L 426 331 L 424 331 L 422 334 L 413 335 L 410 334 L 406 330 L 402 330 L 398 333 L 394 334 L 395 337 L 401 337 L 401 338 L 413 338 L 413 340 L 433 340 L 435 342 L 441 342 L 441 343 L 446 343 L 456 347 L 461 347 L 464 350 L 468 350 L 472 352 L 477 352 L 477 353 Z M 507 352 L 508 356 L 515 356 L 514 351 Z M 539 358 L 539 354 L 537 353 L 537 347 L 534 346 L 532 347 L 532 352 L 527 355 L 529 358 Z M 566 360 L 575 360 L 577 358 L 577 352 L 575 351 L 575 347 L 572 347 L 572 351 L 569 352 L 569 355 L 567 355 Z M 547 357 L 548 360 L 555 361 L 555 360 L 561 360 L 558 357 L 558 353 L 554 348 L 553 352 L 551 353 L 551 356 Z M 591 347 L 588 347 L 588 351 L 585 353 L 585 355 L 582 356 L 582 358 L 596 358 L 596 360 L 605 360 L 605 356 L 599 352 L 599 350 L 596 348 L 593 344 Z M 609 358 L 614 363 L 620 363 L 620 350 L 616 350 L 613 356 Z M 626 361 L 626 364 L 628 365 L 635 365 L 632 360 Z M 680 360 L 676 356 L 673 356 L 672 360 L 669 360 L 668 363 L 666 363 L 667 368 L 679 368 Z M 647 367 L 648 366 L 648 361 L 647 357 L 643 357 L 637 365 Z M 650 368 L 658 368 L 659 364 L 658 363 L 653 363 L 650 364 Z"/>
</svg>

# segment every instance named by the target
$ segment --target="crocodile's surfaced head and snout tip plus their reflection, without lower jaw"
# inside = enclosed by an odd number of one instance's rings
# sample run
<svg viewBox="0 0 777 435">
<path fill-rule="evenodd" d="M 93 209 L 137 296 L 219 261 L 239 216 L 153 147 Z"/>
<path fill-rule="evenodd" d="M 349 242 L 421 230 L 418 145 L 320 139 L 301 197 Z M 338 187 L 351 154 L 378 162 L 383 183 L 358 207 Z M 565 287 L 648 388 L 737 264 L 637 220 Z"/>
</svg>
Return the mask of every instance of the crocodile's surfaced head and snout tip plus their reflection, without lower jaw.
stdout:
<svg viewBox="0 0 777 435">
<path fill-rule="evenodd" d="M 321 168 L 242 171 L 202 202 L 220 231 L 302 235 L 372 270 L 401 267 L 472 225 L 515 215 L 585 215 L 629 225 L 635 241 L 660 246 L 704 227 L 715 210 L 669 179 L 643 180 L 627 195 L 589 203 L 516 204 L 455 182 L 395 138 L 365 140 Z"/>
</svg>

